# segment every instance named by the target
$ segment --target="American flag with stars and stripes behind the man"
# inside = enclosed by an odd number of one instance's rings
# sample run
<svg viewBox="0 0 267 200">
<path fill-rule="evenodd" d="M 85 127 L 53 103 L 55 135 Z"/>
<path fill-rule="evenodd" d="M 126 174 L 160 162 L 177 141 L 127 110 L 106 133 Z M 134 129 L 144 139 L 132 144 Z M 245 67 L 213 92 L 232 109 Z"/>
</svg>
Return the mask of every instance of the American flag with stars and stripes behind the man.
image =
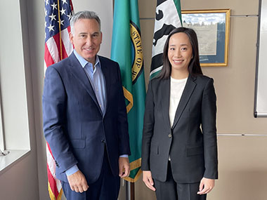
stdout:
<svg viewBox="0 0 267 200">
<path fill-rule="evenodd" d="M 71 0 L 45 0 L 45 48 L 44 70 L 72 53 L 70 43 L 70 18 L 73 15 Z M 46 143 L 48 192 L 50 199 L 61 199 L 62 187 L 60 180 L 56 179 L 56 162 L 51 149 Z"/>
</svg>

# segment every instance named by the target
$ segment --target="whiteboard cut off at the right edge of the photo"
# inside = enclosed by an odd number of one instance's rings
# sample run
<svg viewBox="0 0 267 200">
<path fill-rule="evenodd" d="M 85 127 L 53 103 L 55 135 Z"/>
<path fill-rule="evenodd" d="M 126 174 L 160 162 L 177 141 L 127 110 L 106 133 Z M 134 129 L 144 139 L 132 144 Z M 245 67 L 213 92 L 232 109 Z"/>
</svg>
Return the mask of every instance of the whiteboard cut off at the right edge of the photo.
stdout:
<svg viewBox="0 0 267 200">
<path fill-rule="evenodd" d="M 267 117 L 267 0 L 259 1 L 254 116 Z"/>
</svg>

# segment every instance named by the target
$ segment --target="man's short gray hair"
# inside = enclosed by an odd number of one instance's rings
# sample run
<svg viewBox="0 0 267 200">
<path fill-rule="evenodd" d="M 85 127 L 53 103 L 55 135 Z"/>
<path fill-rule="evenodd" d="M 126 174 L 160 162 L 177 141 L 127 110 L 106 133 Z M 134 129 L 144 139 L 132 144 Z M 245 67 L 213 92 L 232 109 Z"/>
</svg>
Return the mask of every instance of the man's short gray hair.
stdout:
<svg viewBox="0 0 267 200">
<path fill-rule="evenodd" d="M 101 21 L 98 15 L 93 11 L 79 11 L 75 13 L 72 18 L 70 19 L 70 31 L 74 35 L 74 24 L 80 19 L 94 19 L 98 22 L 99 30 L 101 29 Z"/>
</svg>

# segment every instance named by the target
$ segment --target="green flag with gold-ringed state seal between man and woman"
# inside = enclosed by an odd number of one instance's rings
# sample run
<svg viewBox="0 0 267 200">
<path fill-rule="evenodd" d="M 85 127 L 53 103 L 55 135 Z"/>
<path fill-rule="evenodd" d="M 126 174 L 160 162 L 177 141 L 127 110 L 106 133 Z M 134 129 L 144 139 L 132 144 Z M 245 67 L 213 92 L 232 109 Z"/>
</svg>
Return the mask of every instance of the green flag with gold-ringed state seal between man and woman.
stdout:
<svg viewBox="0 0 267 200">
<path fill-rule="evenodd" d="M 145 112 L 145 79 L 138 0 L 115 0 L 111 59 L 119 63 L 129 123 L 131 173 L 125 180 L 136 182 L 141 175 L 141 145 Z"/>
</svg>

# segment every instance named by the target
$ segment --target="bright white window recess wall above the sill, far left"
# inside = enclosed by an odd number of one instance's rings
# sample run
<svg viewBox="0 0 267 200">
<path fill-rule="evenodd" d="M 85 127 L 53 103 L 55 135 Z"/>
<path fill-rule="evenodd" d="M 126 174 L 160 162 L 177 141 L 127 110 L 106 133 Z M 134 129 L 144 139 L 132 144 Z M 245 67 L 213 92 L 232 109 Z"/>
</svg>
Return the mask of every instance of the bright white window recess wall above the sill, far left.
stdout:
<svg viewBox="0 0 267 200">
<path fill-rule="evenodd" d="M 0 32 L 0 80 L 4 131 L 8 133 L 6 148 L 30 149 L 20 7 L 18 1 L 3 3 L 0 13 L 13 12 L 8 20 L 0 18 L 3 27 Z"/>
</svg>

